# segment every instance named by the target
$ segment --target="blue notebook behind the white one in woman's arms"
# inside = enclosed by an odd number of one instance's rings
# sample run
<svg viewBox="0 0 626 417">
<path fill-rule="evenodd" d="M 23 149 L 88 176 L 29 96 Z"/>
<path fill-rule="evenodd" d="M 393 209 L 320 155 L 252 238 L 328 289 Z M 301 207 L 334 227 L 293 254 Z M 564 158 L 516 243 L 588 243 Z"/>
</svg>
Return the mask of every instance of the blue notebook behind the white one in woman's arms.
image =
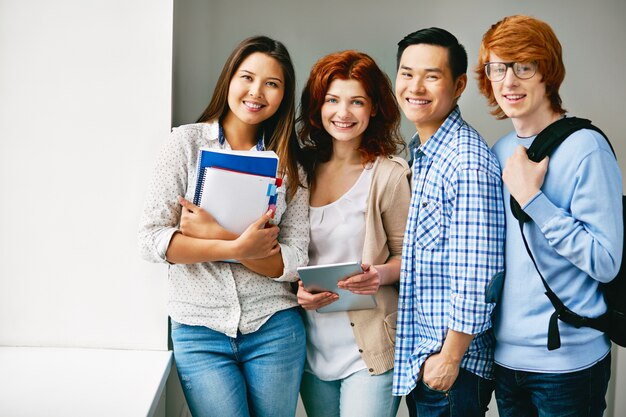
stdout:
<svg viewBox="0 0 626 417">
<path fill-rule="evenodd" d="M 205 169 L 210 167 L 245 172 L 252 175 L 276 178 L 278 156 L 273 151 L 233 151 L 227 149 L 200 149 L 196 189 L 193 203 L 199 205 Z M 270 204 L 276 203 L 276 197 Z"/>
</svg>

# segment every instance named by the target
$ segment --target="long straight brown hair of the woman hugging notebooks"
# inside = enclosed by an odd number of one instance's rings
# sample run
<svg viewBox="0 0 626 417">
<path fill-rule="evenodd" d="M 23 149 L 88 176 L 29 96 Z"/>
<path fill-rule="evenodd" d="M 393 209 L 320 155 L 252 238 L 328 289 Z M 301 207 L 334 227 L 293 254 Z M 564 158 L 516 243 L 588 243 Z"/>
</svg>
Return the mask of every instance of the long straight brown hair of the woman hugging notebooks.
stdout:
<svg viewBox="0 0 626 417">
<path fill-rule="evenodd" d="M 230 81 L 241 63 L 255 52 L 274 58 L 281 66 L 285 77 L 283 99 L 276 113 L 262 123 L 265 135 L 265 148 L 276 152 L 279 157 L 279 175 L 287 176 L 290 187 L 287 195 L 291 199 L 302 183 L 298 176 L 296 157 L 299 144 L 295 133 L 295 87 L 296 76 L 291 57 L 285 45 L 267 36 L 253 36 L 244 39 L 230 54 L 217 79 L 211 102 L 204 110 L 198 123 L 222 121 L 228 113 L 228 89 Z"/>
</svg>

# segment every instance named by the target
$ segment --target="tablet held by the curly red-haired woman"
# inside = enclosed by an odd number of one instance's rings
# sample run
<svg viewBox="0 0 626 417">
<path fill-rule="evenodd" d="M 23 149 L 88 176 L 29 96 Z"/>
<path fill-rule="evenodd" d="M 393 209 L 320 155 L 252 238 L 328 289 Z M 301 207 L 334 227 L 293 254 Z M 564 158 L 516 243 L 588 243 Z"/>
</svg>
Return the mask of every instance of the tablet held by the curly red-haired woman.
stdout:
<svg viewBox="0 0 626 417">
<path fill-rule="evenodd" d="M 337 301 L 317 309 L 318 313 L 375 308 L 376 299 L 373 295 L 354 294 L 337 287 L 337 282 L 362 272 L 360 262 L 301 266 L 298 268 L 298 275 L 300 275 L 307 291 L 312 293 L 331 291 L 339 295 Z"/>
</svg>

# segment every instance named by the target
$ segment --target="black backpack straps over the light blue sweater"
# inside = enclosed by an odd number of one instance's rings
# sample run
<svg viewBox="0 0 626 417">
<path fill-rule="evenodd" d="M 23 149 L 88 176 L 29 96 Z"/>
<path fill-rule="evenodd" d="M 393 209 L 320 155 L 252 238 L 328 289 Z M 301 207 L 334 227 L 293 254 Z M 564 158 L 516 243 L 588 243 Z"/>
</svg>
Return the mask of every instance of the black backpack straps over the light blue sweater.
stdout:
<svg viewBox="0 0 626 417">
<path fill-rule="evenodd" d="M 567 139 L 572 133 L 580 130 L 580 129 L 591 129 L 600 133 L 606 139 L 607 143 L 611 147 L 613 154 L 615 151 L 613 150 L 613 146 L 611 146 L 611 142 L 608 137 L 602 132 L 599 128 L 591 124 L 590 120 L 581 119 L 578 117 L 568 117 L 559 119 L 556 122 L 550 124 L 544 130 L 542 130 L 531 146 L 528 148 L 527 154 L 528 158 L 531 161 L 539 162 L 543 158 L 552 154 L 552 151 L 556 149 L 565 139 Z M 528 252 L 528 256 L 532 261 L 539 277 L 541 278 L 541 282 L 546 290 L 545 294 L 552 303 L 554 307 L 554 313 L 550 316 L 550 323 L 548 324 L 548 350 L 554 350 L 561 347 L 561 335 L 559 332 L 559 320 L 564 321 L 565 323 L 571 324 L 576 328 L 579 327 L 592 327 L 596 330 L 600 330 L 602 332 L 606 332 L 608 329 L 608 316 L 604 314 L 597 318 L 584 317 L 579 314 L 574 313 L 572 310 L 567 308 L 563 301 L 552 291 L 547 281 L 541 274 L 539 270 L 539 266 L 535 261 L 535 258 L 530 250 L 530 246 L 526 241 L 526 236 L 524 236 L 524 223 L 531 220 L 531 218 L 522 210 L 520 205 L 515 201 L 513 196 L 511 196 L 511 211 L 513 212 L 513 216 L 517 219 L 520 227 L 520 233 L 522 234 L 522 240 L 524 241 L 524 246 L 526 248 L 526 252 Z"/>
</svg>

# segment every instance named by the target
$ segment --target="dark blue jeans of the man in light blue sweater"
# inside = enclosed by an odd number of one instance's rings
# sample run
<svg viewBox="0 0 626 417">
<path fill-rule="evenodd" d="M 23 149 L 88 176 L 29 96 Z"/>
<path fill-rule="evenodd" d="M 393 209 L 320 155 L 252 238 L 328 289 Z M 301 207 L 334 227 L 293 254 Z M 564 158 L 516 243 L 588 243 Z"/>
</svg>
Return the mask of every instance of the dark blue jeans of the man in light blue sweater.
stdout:
<svg viewBox="0 0 626 417">
<path fill-rule="evenodd" d="M 565 374 L 514 371 L 496 365 L 500 417 L 602 417 L 611 354 L 590 368 Z"/>
</svg>

